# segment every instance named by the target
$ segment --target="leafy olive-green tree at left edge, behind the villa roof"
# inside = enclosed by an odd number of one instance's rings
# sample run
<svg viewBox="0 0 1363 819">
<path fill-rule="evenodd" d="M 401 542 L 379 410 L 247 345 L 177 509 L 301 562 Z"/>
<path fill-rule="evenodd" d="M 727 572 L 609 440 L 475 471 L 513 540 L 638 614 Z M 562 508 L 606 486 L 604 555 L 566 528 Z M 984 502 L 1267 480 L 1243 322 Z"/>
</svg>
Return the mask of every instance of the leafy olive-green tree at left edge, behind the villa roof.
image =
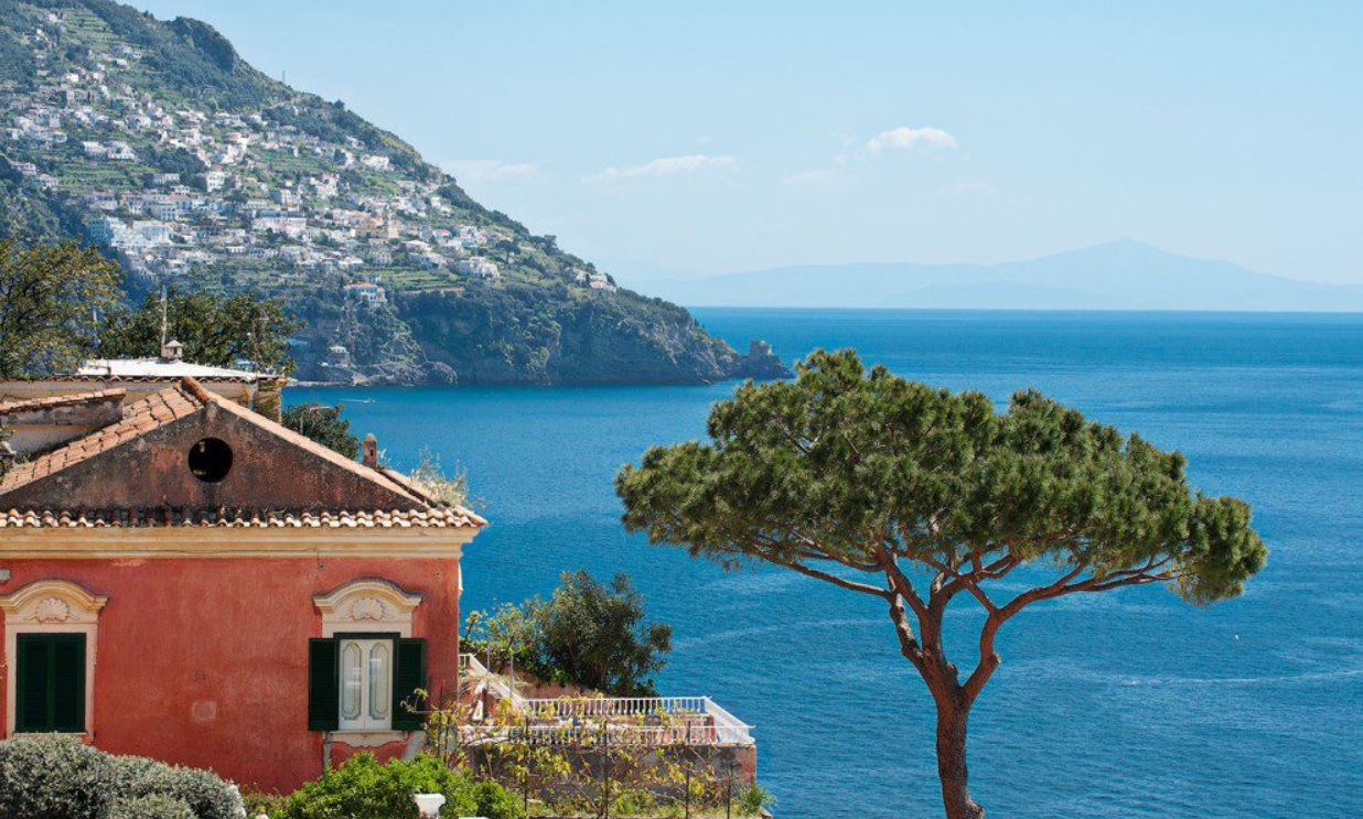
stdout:
<svg viewBox="0 0 1363 819">
<path fill-rule="evenodd" d="M 119 271 L 75 243 L 25 247 L 0 238 L 0 379 L 72 371 L 95 346 L 95 311 Z"/>
</svg>

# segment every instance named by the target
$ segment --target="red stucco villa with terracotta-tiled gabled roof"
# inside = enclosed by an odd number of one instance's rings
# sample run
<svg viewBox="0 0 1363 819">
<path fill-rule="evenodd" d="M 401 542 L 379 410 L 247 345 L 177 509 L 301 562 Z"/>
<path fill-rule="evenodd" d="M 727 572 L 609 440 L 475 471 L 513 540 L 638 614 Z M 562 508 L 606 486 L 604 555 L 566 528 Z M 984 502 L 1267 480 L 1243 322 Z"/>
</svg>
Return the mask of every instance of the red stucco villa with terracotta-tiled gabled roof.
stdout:
<svg viewBox="0 0 1363 819">
<path fill-rule="evenodd" d="M 0 737 L 289 790 L 421 743 L 457 691 L 459 555 L 487 525 L 192 379 L 0 403 Z M 19 436 L 16 436 L 18 440 Z"/>
</svg>

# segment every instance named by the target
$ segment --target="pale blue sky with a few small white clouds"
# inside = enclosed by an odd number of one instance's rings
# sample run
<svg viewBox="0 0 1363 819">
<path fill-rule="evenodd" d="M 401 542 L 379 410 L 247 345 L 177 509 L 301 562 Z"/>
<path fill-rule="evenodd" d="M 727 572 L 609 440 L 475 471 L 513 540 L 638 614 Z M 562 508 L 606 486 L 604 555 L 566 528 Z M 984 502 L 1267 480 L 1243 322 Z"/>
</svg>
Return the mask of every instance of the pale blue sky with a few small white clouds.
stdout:
<svg viewBox="0 0 1363 819">
<path fill-rule="evenodd" d="M 1355 0 L 135 4 L 641 275 L 1131 237 L 1363 283 Z"/>
</svg>

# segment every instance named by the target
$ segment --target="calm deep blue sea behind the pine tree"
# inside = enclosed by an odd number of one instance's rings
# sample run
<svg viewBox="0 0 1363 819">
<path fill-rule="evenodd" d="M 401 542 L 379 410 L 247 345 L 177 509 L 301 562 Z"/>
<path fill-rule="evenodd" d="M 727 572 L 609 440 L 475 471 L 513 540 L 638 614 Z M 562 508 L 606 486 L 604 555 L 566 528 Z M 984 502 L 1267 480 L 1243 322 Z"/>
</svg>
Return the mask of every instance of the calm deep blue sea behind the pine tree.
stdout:
<svg viewBox="0 0 1363 819">
<path fill-rule="evenodd" d="M 792 360 L 855 346 L 1003 401 L 1040 387 L 1190 459 L 1249 500 L 1272 549 L 1209 609 L 1163 589 L 1055 601 L 1005 627 L 972 721 L 991 816 L 1363 816 L 1363 316 L 696 311 Z M 732 384 L 293 390 L 346 402 L 399 467 L 468 470 L 492 526 L 465 606 L 548 593 L 560 571 L 630 572 L 675 627 L 668 694 L 756 725 L 782 819 L 939 816 L 932 709 L 885 612 L 780 570 L 724 574 L 619 526 L 616 469 L 695 439 Z M 962 661 L 973 620 L 954 616 Z"/>
</svg>

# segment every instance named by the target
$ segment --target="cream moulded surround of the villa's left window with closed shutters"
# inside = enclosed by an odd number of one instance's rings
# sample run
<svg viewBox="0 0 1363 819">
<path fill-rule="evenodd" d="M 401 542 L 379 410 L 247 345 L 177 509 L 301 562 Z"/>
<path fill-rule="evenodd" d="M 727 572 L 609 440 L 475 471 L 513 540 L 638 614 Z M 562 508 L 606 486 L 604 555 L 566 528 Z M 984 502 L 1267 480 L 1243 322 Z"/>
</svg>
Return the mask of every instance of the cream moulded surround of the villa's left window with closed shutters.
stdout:
<svg viewBox="0 0 1363 819">
<path fill-rule="evenodd" d="M 99 611 L 106 596 L 91 594 L 71 581 L 34 581 L 12 594 L 0 597 L 4 613 L 4 685 L 5 739 L 15 736 L 19 699 L 19 635 L 83 634 L 86 635 L 85 730 L 75 736 L 94 736 L 94 668 L 99 636 Z"/>
</svg>

